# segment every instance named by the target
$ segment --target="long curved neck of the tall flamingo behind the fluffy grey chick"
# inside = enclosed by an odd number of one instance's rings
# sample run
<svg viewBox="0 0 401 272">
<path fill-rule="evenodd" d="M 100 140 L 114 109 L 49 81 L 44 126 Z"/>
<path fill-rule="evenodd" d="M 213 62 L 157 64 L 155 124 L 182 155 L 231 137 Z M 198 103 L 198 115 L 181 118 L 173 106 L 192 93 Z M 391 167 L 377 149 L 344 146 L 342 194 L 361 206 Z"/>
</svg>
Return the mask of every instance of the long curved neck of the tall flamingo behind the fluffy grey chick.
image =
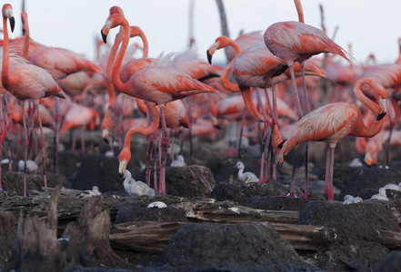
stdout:
<svg viewBox="0 0 401 272">
<path fill-rule="evenodd" d="M 123 16 L 118 16 L 117 18 L 119 20 L 118 23 L 123 27 L 124 37 L 123 37 L 123 43 L 121 44 L 120 51 L 118 51 L 117 58 L 115 59 L 115 67 L 113 69 L 113 83 L 115 84 L 115 87 L 120 92 L 126 92 L 127 84 L 121 82 L 120 70 L 121 70 L 121 63 L 123 63 L 125 50 L 129 43 L 130 27 L 129 27 L 128 21 L 126 21 Z M 116 46 L 118 47 L 118 44 Z"/>
</svg>

